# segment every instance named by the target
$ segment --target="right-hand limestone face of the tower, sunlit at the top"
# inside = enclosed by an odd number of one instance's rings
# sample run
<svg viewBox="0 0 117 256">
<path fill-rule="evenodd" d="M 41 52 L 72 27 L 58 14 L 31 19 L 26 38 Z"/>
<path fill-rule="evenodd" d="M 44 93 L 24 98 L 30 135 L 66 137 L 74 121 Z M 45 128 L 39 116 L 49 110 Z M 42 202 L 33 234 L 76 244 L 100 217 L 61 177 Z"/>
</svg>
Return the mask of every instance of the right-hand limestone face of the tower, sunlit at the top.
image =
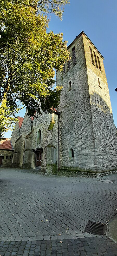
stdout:
<svg viewBox="0 0 117 256">
<path fill-rule="evenodd" d="M 95 163 L 97 170 L 111 170 L 117 168 L 117 137 L 113 121 L 108 84 L 103 65 L 103 57 L 93 44 L 83 35 L 84 50 L 87 64 L 90 103 L 95 142 Z M 92 48 L 94 64 L 92 63 L 90 48 Z M 101 71 L 94 52 L 100 61 Z"/>
</svg>

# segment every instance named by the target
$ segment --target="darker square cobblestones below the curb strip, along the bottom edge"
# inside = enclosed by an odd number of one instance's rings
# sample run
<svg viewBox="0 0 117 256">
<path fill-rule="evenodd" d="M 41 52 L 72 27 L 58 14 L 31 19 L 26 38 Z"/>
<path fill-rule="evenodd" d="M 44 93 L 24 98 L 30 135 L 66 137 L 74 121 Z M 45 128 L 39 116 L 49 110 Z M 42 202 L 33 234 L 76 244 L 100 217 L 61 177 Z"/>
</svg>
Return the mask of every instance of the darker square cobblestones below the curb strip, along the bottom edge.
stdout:
<svg viewBox="0 0 117 256">
<path fill-rule="evenodd" d="M 106 236 L 0 243 L 3 256 L 116 256 L 117 244 Z"/>
</svg>

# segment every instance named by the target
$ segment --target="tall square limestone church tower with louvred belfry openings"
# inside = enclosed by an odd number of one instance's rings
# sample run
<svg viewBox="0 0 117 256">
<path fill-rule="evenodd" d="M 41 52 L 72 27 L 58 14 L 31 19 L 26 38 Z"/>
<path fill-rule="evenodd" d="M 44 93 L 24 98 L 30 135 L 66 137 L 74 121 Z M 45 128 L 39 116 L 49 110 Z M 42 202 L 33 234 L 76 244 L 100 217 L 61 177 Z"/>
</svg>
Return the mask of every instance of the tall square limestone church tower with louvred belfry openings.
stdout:
<svg viewBox="0 0 117 256">
<path fill-rule="evenodd" d="M 57 73 L 62 85 L 60 168 L 93 172 L 117 168 L 117 137 L 103 56 L 82 31 L 68 46 L 72 58 Z"/>
</svg>

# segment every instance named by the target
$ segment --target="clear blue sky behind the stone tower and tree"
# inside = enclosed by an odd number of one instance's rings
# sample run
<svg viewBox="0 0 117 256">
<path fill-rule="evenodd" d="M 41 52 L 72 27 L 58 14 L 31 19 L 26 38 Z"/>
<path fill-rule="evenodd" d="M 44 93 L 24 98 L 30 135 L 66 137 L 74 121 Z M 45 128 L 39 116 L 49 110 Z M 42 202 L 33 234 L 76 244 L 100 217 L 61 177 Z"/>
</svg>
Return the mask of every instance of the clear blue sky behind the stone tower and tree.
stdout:
<svg viewBox="0 0 117 256">
<path fill-rule="evenodd" d="M 47 31 L 50 30 L 63 32 L 63 40 L 68 41 L 68 45 L 83 30 L 105 58 L 105 72 L 117 126 L 117 1 L 70 0 L 70 5 L 65 6 L 62 21 L 51 14 Z M 18 115 L 23 117 L 24 114 L 25 110 L 21 110 Z M 4 137 L 11 137 L 11 133 L 5 133 Z"/>
</svg>

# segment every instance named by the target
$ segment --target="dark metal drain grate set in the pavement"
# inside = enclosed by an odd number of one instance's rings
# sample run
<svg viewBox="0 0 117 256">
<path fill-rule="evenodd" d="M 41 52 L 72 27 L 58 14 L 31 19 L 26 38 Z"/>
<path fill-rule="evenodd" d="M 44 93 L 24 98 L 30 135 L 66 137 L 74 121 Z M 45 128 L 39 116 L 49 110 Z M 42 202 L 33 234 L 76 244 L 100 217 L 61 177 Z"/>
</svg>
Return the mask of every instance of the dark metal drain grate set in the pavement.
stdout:
<svg viewBox="0 0 117 256">
<path fill-rule="evenodd" d="M 106 224 L 96 223 L 89 220 L 84 231 L 92 234 L 97 234 L 97 235 L 105 235 Z"/>
</svg>

